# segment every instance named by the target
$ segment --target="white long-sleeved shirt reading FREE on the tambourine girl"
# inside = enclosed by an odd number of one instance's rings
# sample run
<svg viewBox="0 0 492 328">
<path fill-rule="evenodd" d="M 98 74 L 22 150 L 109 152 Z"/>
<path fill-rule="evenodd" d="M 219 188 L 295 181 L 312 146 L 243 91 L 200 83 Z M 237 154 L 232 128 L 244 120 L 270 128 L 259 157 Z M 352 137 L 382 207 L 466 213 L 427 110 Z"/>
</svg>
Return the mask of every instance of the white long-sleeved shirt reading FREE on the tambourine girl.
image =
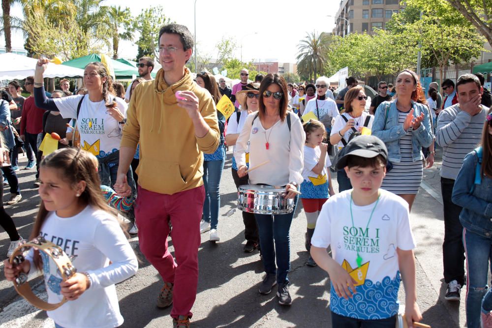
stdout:
<svg viewBox="0 0 492 328">
<path fill-rule="evenodd" d="M 62 247 L 77 272 L 91 276 L 91 287 L 78 299 L 67 301 L 48 316 L 62 327 L 113 328 L 123 324 L 115 284 L 134 275 L 137 258 L 116 218 L 106 211 L 86 207 L 79 214 L 62 218 L 49 212 L 40 235 Z M 43 273 L 50 303 L 62 300 L 62 278 L 42 252 Z M 32 265 L 32 251 L 27 259 Z M 110 264 L 110 261 L 112 262 Z"/>
</svg>

